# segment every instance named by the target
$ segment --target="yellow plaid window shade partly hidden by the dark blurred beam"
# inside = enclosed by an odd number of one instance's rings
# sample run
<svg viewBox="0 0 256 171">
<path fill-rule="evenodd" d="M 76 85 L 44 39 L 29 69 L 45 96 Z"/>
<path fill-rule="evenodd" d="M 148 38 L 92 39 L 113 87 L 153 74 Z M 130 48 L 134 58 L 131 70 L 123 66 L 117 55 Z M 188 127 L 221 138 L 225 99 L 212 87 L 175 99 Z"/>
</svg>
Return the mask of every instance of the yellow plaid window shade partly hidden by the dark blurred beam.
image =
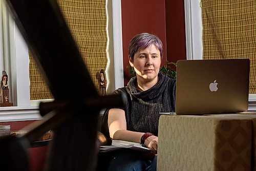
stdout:
<svg viewBox="0 0 256 171">
<path fill-rule="evenodd" d="M 84 62 L 97 90 L 98 74 L 106 68 L 106 9 L 105 0 L 58 0 L 58 5 L 76 40 Z M 52 98 L 44 79 L 30 54 L 30 99 Z"/>
</svg>

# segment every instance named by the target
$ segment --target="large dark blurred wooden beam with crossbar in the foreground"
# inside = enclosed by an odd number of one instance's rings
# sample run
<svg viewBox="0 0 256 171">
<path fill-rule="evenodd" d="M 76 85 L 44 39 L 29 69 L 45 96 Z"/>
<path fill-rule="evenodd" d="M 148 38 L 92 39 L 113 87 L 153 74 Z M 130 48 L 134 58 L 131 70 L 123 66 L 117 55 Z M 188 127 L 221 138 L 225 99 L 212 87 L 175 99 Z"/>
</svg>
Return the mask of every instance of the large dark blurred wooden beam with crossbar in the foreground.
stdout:
<svg viewBox="0 0 256 171">
<path fill-rule="evenodd" d="M 26 127 L 29 131 L 24 136 L 0 139 L 1 148 L 8 146 L 1 155 L 9 156 L 12 166 L 2 163 L 5 160 L 0 160 L 0 165 L 5 165 L 5 170 L 29 170 L 26 148 L 53 130 L 46 170 L 95 170 L 99 111 L 122 106 L 123 96 L 98 95 L 57 1 L 7 3 L 55 101 L 40 104 L 44 117 Z M 67 91 L 69 78 L 76 80 L 75 91 Z M 25 141 L 29 143 L 21 143 Z M 12 148 L 16 143 L 23 145 Z M 20 156 L 23 163 L 18 161 Z"/>
</svg>

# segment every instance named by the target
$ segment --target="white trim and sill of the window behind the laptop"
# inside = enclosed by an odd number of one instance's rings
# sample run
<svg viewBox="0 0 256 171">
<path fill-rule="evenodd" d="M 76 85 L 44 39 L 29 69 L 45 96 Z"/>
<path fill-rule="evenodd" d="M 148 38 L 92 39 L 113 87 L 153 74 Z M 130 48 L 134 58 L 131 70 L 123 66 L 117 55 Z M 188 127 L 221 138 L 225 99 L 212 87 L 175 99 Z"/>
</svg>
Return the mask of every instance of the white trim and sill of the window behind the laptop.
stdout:
<svg viewBox="0 0 256 171">
<path fill-rule="evenodd" d="M 185 1 L 187 59 L 202 59 L 202 13 L 200 0 Z M 256 94 L 249 94 L 248 110 L 256 110 Z"/>
</svg>

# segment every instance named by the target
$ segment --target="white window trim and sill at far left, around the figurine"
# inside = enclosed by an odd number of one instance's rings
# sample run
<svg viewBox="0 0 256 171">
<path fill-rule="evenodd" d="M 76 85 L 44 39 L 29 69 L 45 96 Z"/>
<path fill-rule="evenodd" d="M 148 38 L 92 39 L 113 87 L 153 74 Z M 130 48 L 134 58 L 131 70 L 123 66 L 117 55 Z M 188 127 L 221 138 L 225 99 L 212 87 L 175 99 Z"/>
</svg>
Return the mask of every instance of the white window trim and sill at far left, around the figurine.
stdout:
<svg viewBox="0 0 256 171">
<path fill-rule="evenodd" d="M 1 1 L 1 41 L 0 71 L 8 74 L 10 101 L 12 107 L 0 108 L 0 120 L 35 120 L 40 115 L 35 106 L 30 106 L 29 77 L 28 77 L 28 48 L 14 24 L 13 17 L 6 8 L 5 1 Z"/>
</svg>

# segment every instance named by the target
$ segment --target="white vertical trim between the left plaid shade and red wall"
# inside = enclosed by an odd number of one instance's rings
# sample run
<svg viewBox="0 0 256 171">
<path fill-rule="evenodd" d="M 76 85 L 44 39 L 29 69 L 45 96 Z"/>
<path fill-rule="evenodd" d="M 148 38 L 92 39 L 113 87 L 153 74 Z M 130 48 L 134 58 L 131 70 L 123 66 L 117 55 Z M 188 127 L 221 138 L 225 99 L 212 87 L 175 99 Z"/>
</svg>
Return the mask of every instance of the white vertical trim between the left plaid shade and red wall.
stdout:
<svg viewBox="0 0 256 171">
<path fill-rule="evenodd" d="M 106 93 L 112 94 L 123 87 L 123 52 L 121 0 L 106 1 L 108 44 L 106 48 L 108 64 L 106 65 Z"/>
</svg>

